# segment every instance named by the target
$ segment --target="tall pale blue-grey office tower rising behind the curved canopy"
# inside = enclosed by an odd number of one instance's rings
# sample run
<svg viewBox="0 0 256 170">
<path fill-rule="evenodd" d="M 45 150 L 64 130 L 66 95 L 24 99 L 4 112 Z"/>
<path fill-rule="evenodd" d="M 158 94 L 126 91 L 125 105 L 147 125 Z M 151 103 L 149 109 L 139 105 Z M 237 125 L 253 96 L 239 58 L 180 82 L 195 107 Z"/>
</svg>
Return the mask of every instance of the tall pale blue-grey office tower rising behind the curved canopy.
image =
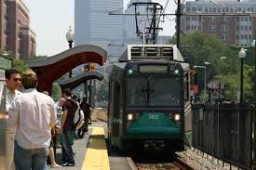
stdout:
<svg viewBox="0 0 256 170">
<path fill-rule="evenodd" d="M 124 48 L 123 16 L 109 12 L 122 9 L 123 0 L 75 0 L 74 46 L 101 46 L 110 59 L 118 58 Z"/>
</svg>

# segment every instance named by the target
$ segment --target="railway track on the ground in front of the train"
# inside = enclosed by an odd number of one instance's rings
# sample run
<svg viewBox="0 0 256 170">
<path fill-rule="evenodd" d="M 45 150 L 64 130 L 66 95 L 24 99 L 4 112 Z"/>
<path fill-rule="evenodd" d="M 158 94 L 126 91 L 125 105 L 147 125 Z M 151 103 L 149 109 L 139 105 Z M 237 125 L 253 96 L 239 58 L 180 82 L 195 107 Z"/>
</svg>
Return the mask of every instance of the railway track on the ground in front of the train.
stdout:
<svg viewBox="0 0 256 170">
<path fill-rule="evenodd" d="M 127 157 L 131 170 L 194 170 L 189 164 L 185 163 L 178 155 L 174 154 L 171 158 L 153 159 L 145 158 L 131 158 Z"/>
</svg>

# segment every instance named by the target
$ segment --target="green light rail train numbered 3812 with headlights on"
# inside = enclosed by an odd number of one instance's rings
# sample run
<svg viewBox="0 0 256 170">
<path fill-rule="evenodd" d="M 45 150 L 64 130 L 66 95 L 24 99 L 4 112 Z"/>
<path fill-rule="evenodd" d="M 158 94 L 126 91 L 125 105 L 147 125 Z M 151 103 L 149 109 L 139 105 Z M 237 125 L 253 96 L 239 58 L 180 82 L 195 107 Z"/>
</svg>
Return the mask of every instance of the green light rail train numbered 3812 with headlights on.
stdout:
<svg viewBox="0 0 256 170">
<path fill-rule="evenodd" d="M 109 79 L 110 146 L 184 150 L 189 71 L 177 46 L 128 45 Z"/>
</svg>

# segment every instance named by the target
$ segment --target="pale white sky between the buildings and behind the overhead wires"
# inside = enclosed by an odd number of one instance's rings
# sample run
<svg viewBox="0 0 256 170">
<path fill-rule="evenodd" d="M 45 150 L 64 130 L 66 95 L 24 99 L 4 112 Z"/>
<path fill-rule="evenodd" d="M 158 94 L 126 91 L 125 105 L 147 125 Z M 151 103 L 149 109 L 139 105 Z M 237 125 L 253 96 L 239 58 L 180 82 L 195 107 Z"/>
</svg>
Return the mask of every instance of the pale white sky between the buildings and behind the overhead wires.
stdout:
<svg viewBox="0 0 256 170">
<path fill-rule="evenodd" d="M 127 7 L 129 0 L 124 0 Z M 36 55 L 53 56 L 68 49 L 66 33 L 69 26 L 74 28 L 74 0 L 23 0 L 30 10 L 30 27 L 36 33 Z M 165 13 L 175 13 L 174 0 L 155 0 Z M 175 33 L 174 16 L 168 16 L 162 24 L 161 35 Z M 75 41 L 75 40 L 74 40 Z"/>
</svg>

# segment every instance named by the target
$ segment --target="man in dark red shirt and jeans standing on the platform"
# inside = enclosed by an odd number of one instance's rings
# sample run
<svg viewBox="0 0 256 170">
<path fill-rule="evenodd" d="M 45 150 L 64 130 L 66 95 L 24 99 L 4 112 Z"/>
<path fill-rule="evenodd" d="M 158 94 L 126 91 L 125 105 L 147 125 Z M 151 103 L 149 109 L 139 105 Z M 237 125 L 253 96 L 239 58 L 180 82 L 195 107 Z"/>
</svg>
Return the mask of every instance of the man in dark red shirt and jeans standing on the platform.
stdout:
<svg viewBox="0 0 256 170">
<path fill-rule="evenodd" d="M 62 166 L 74 166 L 74 154 L 70 142 L 71 133 L 73 133 L 73 118 L 74 112 L 77 109 L 77 106 L 74 105 L 74 101 L 71 98 L 70 90 L 63 91 L 63 98 L 65 102 L 63 103 L 63 114 L 61 119 L 61 132 L 62 132 Z"/>
</svg>

